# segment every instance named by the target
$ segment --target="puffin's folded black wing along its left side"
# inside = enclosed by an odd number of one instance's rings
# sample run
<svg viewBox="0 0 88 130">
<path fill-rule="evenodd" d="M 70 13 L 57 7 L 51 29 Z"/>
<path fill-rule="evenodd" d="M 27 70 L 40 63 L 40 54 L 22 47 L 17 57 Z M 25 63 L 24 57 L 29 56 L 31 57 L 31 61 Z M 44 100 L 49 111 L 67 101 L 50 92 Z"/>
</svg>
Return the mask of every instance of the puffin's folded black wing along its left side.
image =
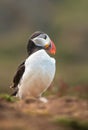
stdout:
<svg viewBox="0 0 88 130">
<path fill-rule="evenodd" d="M 22 62 L 19 66 L 18 66 L 18 69 L 17 69 L 17 72 L 13 78 L 13 85 L 11 86 L 11 88 L 16 88 L 17 85 L 19 84 L 20 82 L 20 79 L 23 75 L 25 71 L 25 62 Z"/>
</svg>

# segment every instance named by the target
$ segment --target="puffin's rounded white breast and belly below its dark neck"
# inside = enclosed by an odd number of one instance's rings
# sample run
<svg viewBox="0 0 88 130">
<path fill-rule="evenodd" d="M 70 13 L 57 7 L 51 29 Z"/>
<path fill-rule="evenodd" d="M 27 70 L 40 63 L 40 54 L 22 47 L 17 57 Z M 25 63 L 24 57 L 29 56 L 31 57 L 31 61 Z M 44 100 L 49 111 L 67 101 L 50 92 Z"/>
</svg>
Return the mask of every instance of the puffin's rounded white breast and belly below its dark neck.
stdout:
<svg viewBox="0 0 88 130">
<path fill-rule="evenodd" d="M 25 62 L 25 72 L 18 85 L 18 96 L 40 96 L 50 86 L 54 75 L 55 59 L 43 49 L 35 52 Z"/>
</svg>

